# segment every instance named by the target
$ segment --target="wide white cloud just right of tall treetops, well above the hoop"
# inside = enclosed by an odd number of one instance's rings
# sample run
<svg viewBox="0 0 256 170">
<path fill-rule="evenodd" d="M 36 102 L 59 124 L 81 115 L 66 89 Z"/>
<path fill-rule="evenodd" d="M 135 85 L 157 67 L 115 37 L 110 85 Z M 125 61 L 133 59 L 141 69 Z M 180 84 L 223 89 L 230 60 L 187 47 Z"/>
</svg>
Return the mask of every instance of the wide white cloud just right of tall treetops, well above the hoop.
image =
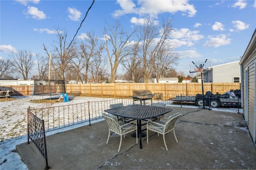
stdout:
<svg viewBox="0 0 256 170">
<path fill-rule="evenodd" d="M 174 30 L 172 37 L 176 39 L 182 39 L 187 41 L 198 41 L 204 38 L 203 35 L 199 34 L 199 31 L 190 31 L 188 28 L 182 28 L 179 30 Z"/>
</svg>

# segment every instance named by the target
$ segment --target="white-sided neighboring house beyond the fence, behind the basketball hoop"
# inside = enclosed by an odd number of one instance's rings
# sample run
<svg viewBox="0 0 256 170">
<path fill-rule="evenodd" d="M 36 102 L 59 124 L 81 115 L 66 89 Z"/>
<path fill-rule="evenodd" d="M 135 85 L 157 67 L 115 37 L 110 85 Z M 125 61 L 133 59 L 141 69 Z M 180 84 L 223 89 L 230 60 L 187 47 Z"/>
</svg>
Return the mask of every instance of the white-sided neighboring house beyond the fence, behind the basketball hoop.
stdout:
<svg viewBox="0 0 256 170">
<path fill-rule="evenodd" d="M 203 72 L 204 82 L 236 83 L 241 82 L 240 61 L 212 66 L 212 70 Z"/>
</svg>

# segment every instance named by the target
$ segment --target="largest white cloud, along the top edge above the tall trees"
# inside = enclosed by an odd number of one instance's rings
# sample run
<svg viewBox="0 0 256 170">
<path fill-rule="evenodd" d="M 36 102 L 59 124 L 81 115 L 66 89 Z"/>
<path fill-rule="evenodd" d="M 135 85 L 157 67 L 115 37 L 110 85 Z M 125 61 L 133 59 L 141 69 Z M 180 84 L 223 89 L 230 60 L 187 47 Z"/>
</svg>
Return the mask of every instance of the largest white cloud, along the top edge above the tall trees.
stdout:
<svg viewBox="0 0 256 170">
<path fill-rule="evenodd" d="M 152 14 L 158 15 L 159 13 L 169 12 L 184 12 L 189 17 L 196 15 L 196 9 L 193 5 L 188 3 L 188 0 L 164 0 L 161 3 L 157 0 L 138 0 L 138 7 L 132 0 L 117 0 L 121 9 L 115 10 L 114 17 L 119 17 L 125 14 Z"/>
</svg>

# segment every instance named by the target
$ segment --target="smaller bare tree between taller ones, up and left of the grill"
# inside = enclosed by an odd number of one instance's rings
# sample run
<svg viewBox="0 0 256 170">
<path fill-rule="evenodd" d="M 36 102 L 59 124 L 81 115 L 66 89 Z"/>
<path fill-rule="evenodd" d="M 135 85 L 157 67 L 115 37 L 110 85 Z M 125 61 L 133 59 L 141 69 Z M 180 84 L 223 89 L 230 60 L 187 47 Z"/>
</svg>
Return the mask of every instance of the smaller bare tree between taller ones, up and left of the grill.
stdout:
<svg viewBox="0 0 256 170">
<path fill-rule="evenodd" d="M 131 55 L 127 55 L 123 58 L 122 64 L 126 68 L 128 74 L 131 75 L 132 82 L 136 82 L 136 70 L 142 63 L 142 56 L 139 53 L 139 42 L 134 43 Z"/>
</svg>

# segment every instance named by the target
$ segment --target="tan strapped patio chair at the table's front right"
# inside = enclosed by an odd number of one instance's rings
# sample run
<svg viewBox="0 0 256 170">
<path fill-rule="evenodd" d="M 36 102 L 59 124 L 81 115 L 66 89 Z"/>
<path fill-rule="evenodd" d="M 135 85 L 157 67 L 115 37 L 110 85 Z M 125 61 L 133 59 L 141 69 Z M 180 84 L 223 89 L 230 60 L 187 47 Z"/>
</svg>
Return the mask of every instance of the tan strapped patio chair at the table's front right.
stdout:
<svg viewBox="0 0 256 170">
<path fill-rule="evenodd" d="M 174 131 L 174 125 L 178 120 L 178 118 L 180 117 L 180 115 L 181 114 L 178 112 L 178 113 L 175 113 L 174 115 L 170 115 L 168 119 L 164 118 L 165 121 L 163 120 L 147 121 L 147 143 L 148 143 L 148 130 L 158 133 L 158 136 L 159 136 L 159 133 L 163 135 L 164 145 L 166 147 L 166 150 L 168 150 L 166 146 L 165 138 L 164 138 L 164 135 L 166 133 L 173 131 L 176 142 L 178 143 L 175 135 L 175 131 Z"/>
</svg>

